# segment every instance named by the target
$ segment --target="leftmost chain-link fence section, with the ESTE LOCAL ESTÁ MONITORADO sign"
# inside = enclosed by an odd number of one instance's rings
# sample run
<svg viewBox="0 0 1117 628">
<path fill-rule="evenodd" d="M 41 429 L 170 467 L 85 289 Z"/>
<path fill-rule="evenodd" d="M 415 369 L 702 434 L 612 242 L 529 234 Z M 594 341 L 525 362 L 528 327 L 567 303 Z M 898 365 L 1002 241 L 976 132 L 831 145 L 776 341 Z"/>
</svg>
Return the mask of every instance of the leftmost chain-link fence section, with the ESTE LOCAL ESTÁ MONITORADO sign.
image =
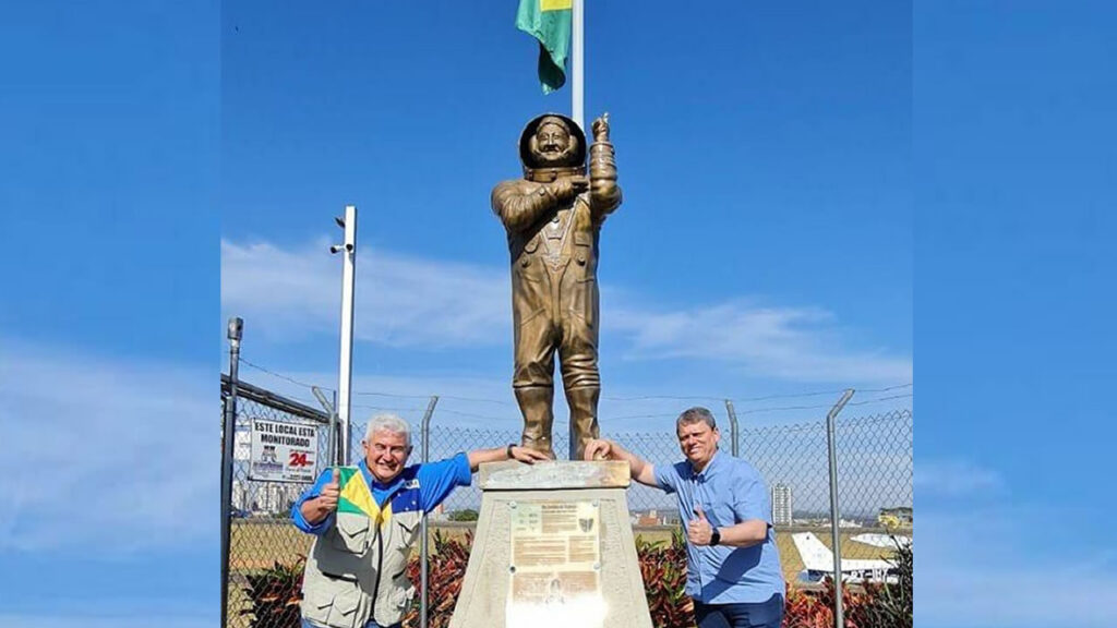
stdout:
<svg viewBox="0 0 1117 628">
<path fill-rule="evenodd" d="M 229 393 L 229 379 L 222 374 L 222 416 L 226 405 L 230 402 Z M 331 463 L 327 456 L 330 417 L 321 410 L 242 381 L 237 383 L 236 410 L 232 492 L 228 505 L 228 626 L 270 628 L 266 622 L 254 621 L 254 602 L 260 603 L 260 600 L 254 599 L 249 592 L 251 578 L 276 564 L 289 565 L 299 556 L 305 556 L 312 537 L 290 523 L 292 504 L 308 484 L 277 479 L 281 476 L 278 468 L 288 466 L 288 460 L 279 460 L 276 450 L 285 448 L 268 445 L 268 440 L 279 443 L 284 435 L 296 435 L 302 431 L 300 428 L 309 429 L 313 436 L 304 438 L 311 444 L 312 455 L 302 460 L 305 465 L 303 475 L 316 477 L 318 470 Z M 265 432 L 257 436 L 255 443 L 254 429 Z M 252 451 L 254 447 L 256 451 Z M 299 454 L 296 451 L 294 455 Z M 300 581 L 299 577 L 295 584 Z"/>
</svg>

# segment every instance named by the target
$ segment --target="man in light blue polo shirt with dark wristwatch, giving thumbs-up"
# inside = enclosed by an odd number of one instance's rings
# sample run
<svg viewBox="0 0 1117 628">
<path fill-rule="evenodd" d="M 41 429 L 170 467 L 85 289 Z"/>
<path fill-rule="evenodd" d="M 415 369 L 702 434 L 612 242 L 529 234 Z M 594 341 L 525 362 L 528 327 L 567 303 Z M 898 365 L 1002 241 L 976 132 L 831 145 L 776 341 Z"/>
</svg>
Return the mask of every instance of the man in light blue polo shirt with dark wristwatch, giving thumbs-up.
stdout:
<svg viewBox="0 0 1117 628">
<path fill-rule="evenodd" d="M 675 428 L 685 462 L 653 466 L 611 440 L 590 441 L 585 459 L 627 460 L 633 479 L 678 496 L 698 628 L 780 628 L 784 582 L 764 479 L 717 450 L 706 408 L 682 412 Z"/>
</svg>

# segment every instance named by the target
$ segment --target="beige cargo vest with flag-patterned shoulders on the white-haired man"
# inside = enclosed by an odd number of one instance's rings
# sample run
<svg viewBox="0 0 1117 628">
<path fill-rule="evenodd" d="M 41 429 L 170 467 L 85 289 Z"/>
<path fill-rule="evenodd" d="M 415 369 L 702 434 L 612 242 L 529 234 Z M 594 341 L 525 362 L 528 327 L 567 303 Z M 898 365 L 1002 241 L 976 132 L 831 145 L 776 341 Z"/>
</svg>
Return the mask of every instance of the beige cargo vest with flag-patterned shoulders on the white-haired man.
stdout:
<svg viewBox="0 0 1117 628">
<path fill-rule="evenodd" d="M 422 521 L 418 467 L 401 474 L 383 507 L 360 467 L 341 467 L 334 523 L 314 540 L 303 578 L 303 617 L 330 628 L 362 628 L 370 619 L 403 619 L 414 587 L 408 555 Z"/>
</svg>

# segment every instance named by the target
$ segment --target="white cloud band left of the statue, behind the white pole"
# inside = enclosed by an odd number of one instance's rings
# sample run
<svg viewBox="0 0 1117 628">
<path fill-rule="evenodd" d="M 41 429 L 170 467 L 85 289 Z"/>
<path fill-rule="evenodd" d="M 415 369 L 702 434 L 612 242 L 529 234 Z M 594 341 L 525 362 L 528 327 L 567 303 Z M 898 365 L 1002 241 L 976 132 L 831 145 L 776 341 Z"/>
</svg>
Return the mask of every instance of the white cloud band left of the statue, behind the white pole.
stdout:
<svg viewBox="0 0 1117 628">
<path fill-rule="evenodd" d="M 222 240 L 222 308 L 276 337 L 336 334 L 341 260 L 327 248 Z M 496 344 L 508 334 L 508 291 L 506 270 L 362 248 L 354 336 L 392 346 Z"/>
</svg>

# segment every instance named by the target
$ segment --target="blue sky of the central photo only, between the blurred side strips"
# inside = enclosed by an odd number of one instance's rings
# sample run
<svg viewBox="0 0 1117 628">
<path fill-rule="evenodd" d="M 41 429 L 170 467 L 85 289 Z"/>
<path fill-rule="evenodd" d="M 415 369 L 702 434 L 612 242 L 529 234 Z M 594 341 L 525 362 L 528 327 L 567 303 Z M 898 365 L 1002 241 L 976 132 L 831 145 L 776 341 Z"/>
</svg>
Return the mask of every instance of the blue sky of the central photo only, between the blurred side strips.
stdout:
<svg viewBox="0 0 1117 628">
<path fill-rule="evenodd" d="M 569 92 L 541 94 L 532 40 L 495 3 L 265 6 L 222 8 L 222 306 L 246 320 L 246 356 L 332 384 L 324 245 L 354 202 L 355 371 L 427 392 L 485 377 L 510 399 L 488 193 L 518 174 L 523 125 L 569 112 Z M 585 107 L 611 114 L 626 190 L 599 277 L 617 394 L 910 381 L 908 12 L 756 11 L 589 16 Z M 655 45 L 672 31 L 707 37 Z"/>
</svg>

